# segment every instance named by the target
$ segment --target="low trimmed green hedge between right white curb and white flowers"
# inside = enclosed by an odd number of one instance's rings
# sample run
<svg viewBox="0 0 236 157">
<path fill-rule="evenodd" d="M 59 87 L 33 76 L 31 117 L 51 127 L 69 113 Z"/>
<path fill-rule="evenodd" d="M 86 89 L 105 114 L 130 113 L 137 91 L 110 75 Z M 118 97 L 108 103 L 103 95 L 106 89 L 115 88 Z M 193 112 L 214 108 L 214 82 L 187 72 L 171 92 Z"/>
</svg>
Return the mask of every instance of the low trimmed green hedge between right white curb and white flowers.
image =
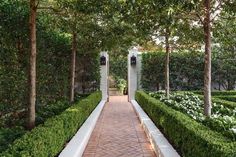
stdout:
<svg viewBox="0 0 236 157">
<path fill-rule="evenodd" d="M 143 91 L 136 100 L 185 157 L 236 157 L 236 142 L 210 130 Z"/>
</svg>

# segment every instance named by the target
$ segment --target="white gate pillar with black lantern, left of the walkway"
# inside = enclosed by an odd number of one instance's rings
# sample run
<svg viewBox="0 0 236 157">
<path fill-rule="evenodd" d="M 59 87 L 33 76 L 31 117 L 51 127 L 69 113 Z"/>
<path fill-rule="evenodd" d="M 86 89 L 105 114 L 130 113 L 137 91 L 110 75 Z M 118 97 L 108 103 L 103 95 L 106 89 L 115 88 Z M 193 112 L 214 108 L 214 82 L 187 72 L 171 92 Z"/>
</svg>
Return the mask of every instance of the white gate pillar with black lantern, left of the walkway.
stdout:
<svg viewBox="0 0 236 157">
<path fill-rule="evenodd" d="M 106 57 L 106 65 L 100 65 L 100 90 L 102 92 L 102 100 L 108 101 L 109 55 L 107 54 L 107 52 L 101 52 L 100 56 Z"/>
</svg>

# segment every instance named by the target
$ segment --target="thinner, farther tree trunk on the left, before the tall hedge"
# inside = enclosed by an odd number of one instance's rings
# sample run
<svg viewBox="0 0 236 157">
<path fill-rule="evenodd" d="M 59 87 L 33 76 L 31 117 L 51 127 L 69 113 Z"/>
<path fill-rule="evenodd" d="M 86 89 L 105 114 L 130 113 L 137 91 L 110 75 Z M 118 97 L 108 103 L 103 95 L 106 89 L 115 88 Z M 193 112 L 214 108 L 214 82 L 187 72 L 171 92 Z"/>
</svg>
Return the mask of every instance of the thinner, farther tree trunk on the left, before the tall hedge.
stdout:
<svg viewBox="0 0 236 157">
<path fill-rule="evenodd" d="M 72 33 L 72 54 L 71 54 L 71 84 L 70 84 L 70 102 L 74 102 L 75 95 L 75 63 L 76 63 L 76 49 L 77 49 L 77 34 Z"/>
</svg>

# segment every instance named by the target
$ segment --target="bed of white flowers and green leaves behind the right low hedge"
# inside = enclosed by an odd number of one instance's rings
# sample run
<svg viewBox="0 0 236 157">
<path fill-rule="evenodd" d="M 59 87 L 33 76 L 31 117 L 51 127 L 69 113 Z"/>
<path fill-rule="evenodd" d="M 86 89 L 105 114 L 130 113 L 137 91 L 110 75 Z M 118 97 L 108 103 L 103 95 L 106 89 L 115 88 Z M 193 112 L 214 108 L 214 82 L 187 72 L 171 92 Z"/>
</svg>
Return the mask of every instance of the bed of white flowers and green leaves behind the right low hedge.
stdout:
<svg viewBox="0 0 236 157">
<path fill-rule="evenodd" d="M 191 93 L 172 93 L 170 99 L 166 99 L 164 94 L 149 93 L 152 97 L 160 99 L 166 105 L 181 111 L 192 119 L 218 131 L 223 135 L 236 139 L 236 108 L 231 109 L 220 103 L 213 103 L 212 116 L 204 116 L 204 103 L 199 96 Z"/>
</svg>

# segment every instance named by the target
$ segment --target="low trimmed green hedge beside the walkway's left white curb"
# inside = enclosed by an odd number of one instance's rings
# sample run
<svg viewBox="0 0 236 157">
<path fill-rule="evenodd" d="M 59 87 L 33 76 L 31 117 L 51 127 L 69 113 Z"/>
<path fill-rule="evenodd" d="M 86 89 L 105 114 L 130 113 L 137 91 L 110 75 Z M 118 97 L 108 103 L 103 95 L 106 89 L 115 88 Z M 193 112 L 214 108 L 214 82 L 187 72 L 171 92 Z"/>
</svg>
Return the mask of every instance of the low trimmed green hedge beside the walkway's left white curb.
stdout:
<svg viewBox="0 0 236 157">
<path fill-rule="evenodd" d="M 60 115 L 15 140 L 1 157 L 54 157 L 58 155 L 101 100 L 95 92 Z"/>
</svg>

